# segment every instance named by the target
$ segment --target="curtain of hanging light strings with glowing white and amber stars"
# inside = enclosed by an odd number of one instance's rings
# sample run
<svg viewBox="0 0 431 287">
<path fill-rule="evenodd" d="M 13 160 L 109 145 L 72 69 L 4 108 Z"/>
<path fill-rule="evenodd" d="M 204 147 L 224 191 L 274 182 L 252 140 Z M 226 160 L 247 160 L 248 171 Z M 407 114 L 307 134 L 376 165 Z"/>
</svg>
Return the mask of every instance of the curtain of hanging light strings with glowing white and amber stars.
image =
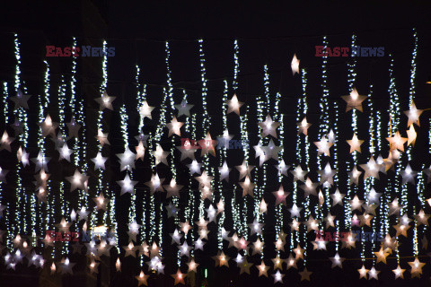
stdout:
<svg viewBox="0 0 431 287">
<path fill-rule="evenodd" d="M 332 90 L 330 57 L 316 69 L 299 52 L 286 62 L 294 99 L 272 90 L 271 65 L 260 65 L 261 94 L 251 98 L 240 89 L 238 40 L 231 78 L 213 99 L 203 39 L 193 41 L 198 90 L 176 87 L 175 46 L 166 41 L 160 99 L 137 64 L 136 102 L 111 93 L 104 55 L 96 96 L 80 94 L 80 62 L 71 57 L 56 88 L 43 61 L 43 91 L 27 103 L 38 91 L 22 81 L 14 35 L 14 83 L 0 91 L 1 262 L 11 272 L 28 262 L 70 275 L 81 262 L 75 253 L 86 250 L 85 272 L 100 272 L 101 257 L 118 274 L 136 262 L 138 286 L 162 276 L 173 285 L 206 282 L 213 267 L 276 284 L 290 272 L 312 281 L 314 262 L 368 280 L 429 274 L 431 171 L 415 152 L 431 152 L 431 107 L 418 99 L 418 31 L 412 35 L 409 97 L 401 97 L 389 54 L 385 108 L 375 83 L 359 83 L 360 59 L 343 62 L 347 82 Z M 350 47 L 358 43 L 353 35 Z M 286 108 L 287 100 L 295 104 Z"/>
</svg>

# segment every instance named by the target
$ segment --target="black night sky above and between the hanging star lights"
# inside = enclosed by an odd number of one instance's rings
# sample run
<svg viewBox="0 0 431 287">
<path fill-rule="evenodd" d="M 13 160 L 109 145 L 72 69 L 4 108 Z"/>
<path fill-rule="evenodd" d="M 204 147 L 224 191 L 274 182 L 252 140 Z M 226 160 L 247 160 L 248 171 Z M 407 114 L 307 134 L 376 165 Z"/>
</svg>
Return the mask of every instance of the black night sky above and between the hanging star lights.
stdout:
<svg viewBox="0 0 431 287">
<path fill-rule="evenodd" d="M 80 1 L 83 4 L 84 1 Z M 99 15 L 81 13 L 80 6 L 75 4 L 46 1 L 11 1 L 4 4 L 4 15 L 0 17 L 0 81 L 13 81 L 13 37 L 11 31 L 22 35 L 22 78 L 29 85 L 29 90 L 42 91 L 43 74 L 42 59 L 45 53 L 44 45 L 68 46 L 71 37 L 78 38 L 78 45 L 84 41 L 101 43 L 100 39 L 108 39 L 108 44 L 116 48 L 116 56 L 109 60 L 110 95 L 118 97 L 115 108 L 125 102 L 128 110 L 136 108 L 135 65 L 141 68 L 140 81 L 148 84 L 148 101 L 152 106 L 160 105 L 163 99 L 162 88 L 166 84 L 165 40 L 169 40 L 171 48 L 172 81 L 175 88 L 174 98 L 180 101 L 182 91 L 186 89 L 190 101 L 197 105 L 192 111 L 201 108 L 201 82 L 198 62 L 198 42 L 205 40 L 205 54 L 208 79 L 209 114 L 215 119 L 211 135 L 221 134 L 221 95 L 224 89 L 224 79 L 230 84 L 230 95 L 233 76 L 233 39 L 239 40 L 240 74 L 239 99 L 253 106 L 257 95 L 263 95 L 263 65 L 268 65 L 270 94 L 282 94 L 282 113 L 286 115 L 287 133 L 295 135 L 296 99 L 302 93 L 301 78 L 292 75 L 290 62 L 296 53 L 301 59 L 301 66 L 308 72 L 307 93 L 309 94 L 309 121 L 317 123 L 319 119 L 319 98 L 321 97 L 321 58 L 314 57 L 314 47 L 321 45 L 321 37 L 328 35 L 330 47 L 350 46 L 353 33 L 357 36 L 357 45 L 365 47 L 384 47 L 385 57 L 358 59 L 356 72 L 356 88 L 360 94 L 369 92 L 370 84 L 374 85 L 374 104 L 383 112 L 389 109 L 389 57 L 391 53 L 395 61 L 395 78 L 401 98 L 401 110 L 408 107 L 409 69 L 412 50 L 412 28 L 418 29 L 419 52 L 417 72 L 418 108 L 430 108 L 430 85 L 425 84 L 427 76 L 431 75 L 431 4 L 425 1 L 409 1 L 409 5 L 400 1 L 365 1 L 346 4 L 345 1 L 298 1 L 298 3 L 270 2 L 254 4 L 253 2 L 225 3 L 215 1 L 209 4 L 204 1 L 154 1 L 130 3 L 94 1 L 101 14 L 101 21 L 106 22 L 106 30 L 86 28 L 83 22 L 88 18 L 99 19 Z M 81 17 L 81 15 L 86 15 Z M 95 21 L 97 22 L 97 21 Z M 12 41 L 11 41 L 12 39 Z M 330 58 L 329 78 L 331 101 L 337 101 L 344 107 L 344 101 L 339 97 L 348 93 L 347 61 L 350 58 Z M 69 73 L 70 59 L 56 62 L 59 73 Z M 26 64 L 27 63 L 27 64 Z M 69 63 L 69 64 L 68 64 Z M 98 71 L 99 72 L 99 71 Z M 53 75 L 56 79 L 57 75 Z M 81 91 L 84 86 L 100 85 L 100 76 L 81 78 Z M 54 80 L 55 82 L 55 80 Z M 55 83 L 53 83 L 55 87 Z M 56 88 L 54 88 L 56 89 Z M 84 94 L 84 93 L 83 93 Z M 84 94 L 89 102 L 96 98 L 96 93 Z M 92 102 L 92 107 L 95 104 Z M 232 117 L 230 117 L 230 120 Z M 251 118 L 254 116 L 251 115 Z M 341 121 L 347 120 L 343 114 Z M 428 116 L 429 117 L 429 114 Z M 424 123 L 427 122 L 424 117 Z M 422 118 L 421 118 L 422 119 Z M 362 117 L 360 124 L 368 118 Z M 405 120 L 405 118 L 404 118 Z M 136 127 L 136 114 L 130 113 L 130 128 Z M 119 113 L 112 113 L 110 128 L 119 130 Z M 151 128 L 152 123 L 149 123 Z M 237 123 L 230 126 L 239 126 Z M 312 128 L 316 128 L 315 125 Z M 429 128 L 425 125 L 424 128 Z M 234 128 L 234 127 L 233 127 Z M 257 127 L 252 129 L 257 131 Z M 317 140 L 317 128 L 312 130 L 312 140 Z M 2 127 L 3 129 L 3 127 Z M 0 130 L 2 130 L 0 129 Z M 231 131 L 231 130 L 230 130 Z M 234 129 L 231 134 L 238 134 Z M 351 137 L 350 126 L 340 127 L 343 138 Z M 368 131 L 359 130 L 359 138 L 366 137 Z M 115 159 L 115 153 L 122 152 L 119 134 L 112 134 L 112 150 L 110 160 Z M 132 137 L 132 136 L 130 136 Z M 214 136 L 213 136 L 214 137 Z M 425 141 L 418 140 L 419 152 L 426 148 Z M 132 143 L 132 145 L 135 143 Z M 252 143 L 256 144 L 256 143 Z M 295 144 L 293 141 L 285 147 L 285 161 L 294 163 Z M 422 144 L 422 147 L 421 147 Z M 347 148 L 347 147 L 344 147 Z M 422 148 L 422 150 L 421 150 Z M 420 157 L 420 153 L 415 154 Z M 315 149 L 312 149 L 315 157 Z M 94 156 L 91 154 L 91 156 Z M 364 155 L 361 161 L 365 161 Z M 429 157 L 428 157 L 429 158 Z M 233 156 L 229 165 L 239 165 L 241 157 Z M 429 159 L 427 159 L 429 161 Z M 274 163 L 274 162 L 272 162 Z M 362 163 L 362 162 L 361 162 Z M 141 167 L 143 170 L 144 167 Z M 118 169 L 115 166 L 115 169 Z M 163 169 L 163 168 L 162 168 Z M 168 169 L 164 167 L 164 169 Z M 185 168 L 182 168 L 185 170 Z M 417 169 L 418 170 L 418 169 Z M 124 174 L 113 174 L 112 181 L 121 179 Z M 143 172 L 142 182 L 150 178 L 148 172 Z M 236 176 L 235 176 L 236 177 Z M 287 181 L 287 180 L 286 180 Z M 291 178 L 288 180 L 291 182 Z M 143 186 L 143 185 L 142 185 Z M 116 187 L 118 188 L 118 187 Z M 428 191 L 429 193 L 429 191 Z M 429 197 L 429 196 L 428 196 Z M 125 221 L 124 218 L 119 221 Z M 213 250 L 214 251 L 214 250 Z M 320 267 L 319 261 L 312 263 L 310 269 Z M 328 267 L 328 266 L 326 266 Z M 358 266 L 359 268 L 360 266 Z M 336 271 L 330 276 L 321 271 L 313 274 L 323 284 L 350 286 L 350 276 L 357 278 L 355 272 L 343 274 Z M 388 269 L 388 268 L 386 268 Z M 329 270 L 328 268 L 325 270 Z M 389 270 L 389 269 L 388 269 Z M 173 272 L 173 271 L 172 271 Z M 429 274 L 429 272 L 428 272 Z M 234 276 L 233 274 L 226 276 Z M 297 275 L 293 274 L 297 282 Z M 335 277 L 339 276 L 339 277 Z M 223 276 L 222 276 L 223 277 Z M 227 277 L 223 277 L 224 279 Z M 234 278 L 234 277 L 231 277 Z M 263 284 L 262 281 L 248 283 L 242 277 L 242 284 Z M 381 284 L 371 283 L 370 286 L 388 286 L 391 282 Z M 310 285 L 310 284 L 309 284 Z M 254 286 L 254 285 L 253 285 Z"/>
</svg>

